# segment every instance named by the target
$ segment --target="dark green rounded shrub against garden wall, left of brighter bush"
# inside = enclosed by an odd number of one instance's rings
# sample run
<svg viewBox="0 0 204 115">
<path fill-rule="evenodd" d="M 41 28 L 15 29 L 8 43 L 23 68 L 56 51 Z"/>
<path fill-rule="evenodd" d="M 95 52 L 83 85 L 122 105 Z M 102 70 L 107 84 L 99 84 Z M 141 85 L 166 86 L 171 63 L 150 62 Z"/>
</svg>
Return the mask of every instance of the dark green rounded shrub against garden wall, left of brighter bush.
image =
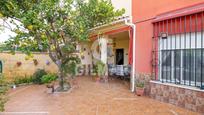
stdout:
<svg viewBox="0 0 204 115">
<path fill-rule="evenodd" d="M 38 69 L 34 74 L 33 74 L 33 83 L 36 84 L 42 84 L 41 78 L 47 75 L 47 72 L 44 69 Z"/>
</svg>

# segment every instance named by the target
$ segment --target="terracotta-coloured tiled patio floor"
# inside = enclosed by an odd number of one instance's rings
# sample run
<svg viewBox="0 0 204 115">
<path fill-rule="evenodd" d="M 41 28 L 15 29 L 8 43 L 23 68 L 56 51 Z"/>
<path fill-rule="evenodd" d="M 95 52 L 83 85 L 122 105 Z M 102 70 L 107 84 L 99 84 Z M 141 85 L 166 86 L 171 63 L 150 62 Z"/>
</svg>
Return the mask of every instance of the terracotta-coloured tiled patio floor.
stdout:
<svg viewBox="0 0 204 115">
<path fill-rule="evenodd" d="M 78 77 L 79 88 L 67 93 L 47 93 L 44 85 L 30 85 L 9 93 L 6 111 L 0 115 L 198 115 L 177 106 L 139 97 L 128 83 L 113 80 L 95 83 Z"/>
</svg>

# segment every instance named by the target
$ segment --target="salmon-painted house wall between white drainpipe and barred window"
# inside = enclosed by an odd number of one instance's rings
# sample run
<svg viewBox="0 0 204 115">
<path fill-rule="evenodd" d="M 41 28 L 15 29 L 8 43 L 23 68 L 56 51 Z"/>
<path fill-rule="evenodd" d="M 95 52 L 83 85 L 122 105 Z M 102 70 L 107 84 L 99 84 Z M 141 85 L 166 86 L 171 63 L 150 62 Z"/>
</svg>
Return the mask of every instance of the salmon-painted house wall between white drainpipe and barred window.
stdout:
<svg viewBox="0 0 204 115">
<path fill-rule="evenodd" d="M 152 20 L 156 15 L 202 3 L 204 0 L 132 0 L 136 30 L 136 72 L 151 73 Z"/>
</svg>

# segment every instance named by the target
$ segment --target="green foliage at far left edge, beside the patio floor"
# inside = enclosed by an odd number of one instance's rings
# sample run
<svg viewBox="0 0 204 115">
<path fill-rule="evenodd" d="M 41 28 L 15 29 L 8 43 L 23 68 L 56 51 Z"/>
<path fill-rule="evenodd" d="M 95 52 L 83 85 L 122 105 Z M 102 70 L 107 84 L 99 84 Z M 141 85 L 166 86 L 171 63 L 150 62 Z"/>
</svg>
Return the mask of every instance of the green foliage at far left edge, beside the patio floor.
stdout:
<svg viewBox="0 0 204 115">
<path fill-rule="evenodd" d="M 8 83 L 4 77 L 0 76 L 0 111 L 4 111 L 4 104 L 7 102 L 6 92 L 8 90 Z"/>
</svg>

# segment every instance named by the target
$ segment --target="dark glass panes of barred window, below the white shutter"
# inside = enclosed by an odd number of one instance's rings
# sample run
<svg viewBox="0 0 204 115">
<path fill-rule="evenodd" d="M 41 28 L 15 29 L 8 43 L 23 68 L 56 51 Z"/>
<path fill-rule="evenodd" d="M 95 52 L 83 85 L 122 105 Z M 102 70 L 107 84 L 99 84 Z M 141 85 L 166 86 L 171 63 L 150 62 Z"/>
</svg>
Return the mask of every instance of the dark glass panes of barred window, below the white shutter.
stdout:
<svg viewBox="0 0 204 115">
<path fill-rule="evenodd" d="M 201 52 L 202 51 L 202 52 Z M 191 86 L 201 86 L 204 75 L 204 50 L 162 50 L 160 80 Z"/>
</svg>

